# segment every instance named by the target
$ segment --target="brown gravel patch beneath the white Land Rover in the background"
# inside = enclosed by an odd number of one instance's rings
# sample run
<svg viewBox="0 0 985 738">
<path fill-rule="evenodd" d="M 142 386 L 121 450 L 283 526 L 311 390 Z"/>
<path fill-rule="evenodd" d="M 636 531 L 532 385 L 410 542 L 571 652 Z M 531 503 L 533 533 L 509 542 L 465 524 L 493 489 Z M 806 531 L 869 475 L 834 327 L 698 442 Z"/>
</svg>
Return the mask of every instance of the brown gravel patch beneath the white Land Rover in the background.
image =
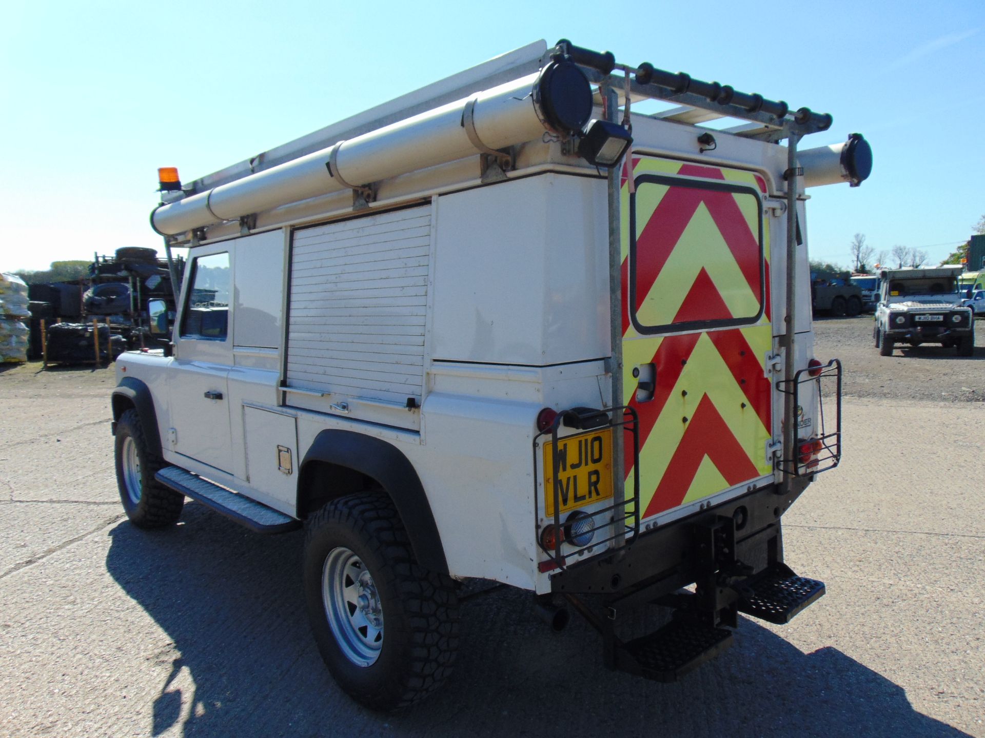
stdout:
<svg viewBox="0 0 985 738">
<path fill-rule="evenodd" d="M 815 322 L 815 355 L 839 358 L 845 397 L 881 400 L 985 401 L 985 321 L 976 321 L 975 354 L 935 344 L 896 346 L 880 356 L 871 315 Z"/>
</svg>

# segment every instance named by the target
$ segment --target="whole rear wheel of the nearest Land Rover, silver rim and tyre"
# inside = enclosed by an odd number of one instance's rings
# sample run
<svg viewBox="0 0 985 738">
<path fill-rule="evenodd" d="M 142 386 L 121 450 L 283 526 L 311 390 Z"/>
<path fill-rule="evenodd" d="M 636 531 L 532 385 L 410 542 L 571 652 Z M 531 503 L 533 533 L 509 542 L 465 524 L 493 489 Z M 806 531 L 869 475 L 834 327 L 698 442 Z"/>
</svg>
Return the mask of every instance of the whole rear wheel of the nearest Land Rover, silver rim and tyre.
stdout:
<svg viewBox="0 0 985 738">
<path fill-rule="evenodd" d="M 306 528 L 308 618 L 335 681 L 371 709 L 426 698 L 448 678 L 458 648 L 451 579 L 417 564 L 385 493 L 334 500 Z"/>
</svg>

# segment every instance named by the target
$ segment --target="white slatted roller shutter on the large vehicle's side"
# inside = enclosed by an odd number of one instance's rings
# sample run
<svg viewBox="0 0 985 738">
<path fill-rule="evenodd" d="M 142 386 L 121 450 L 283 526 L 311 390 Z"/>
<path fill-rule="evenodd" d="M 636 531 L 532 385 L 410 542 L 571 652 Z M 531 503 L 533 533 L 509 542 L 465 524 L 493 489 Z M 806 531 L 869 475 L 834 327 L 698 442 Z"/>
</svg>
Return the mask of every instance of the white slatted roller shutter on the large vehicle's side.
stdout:
<svg viewBox="0 0 985 738">
<path fill-rule="evenodd" d="M 287 403 L 420 429 L 431 206 L 297 229 Z"/>
</svg>

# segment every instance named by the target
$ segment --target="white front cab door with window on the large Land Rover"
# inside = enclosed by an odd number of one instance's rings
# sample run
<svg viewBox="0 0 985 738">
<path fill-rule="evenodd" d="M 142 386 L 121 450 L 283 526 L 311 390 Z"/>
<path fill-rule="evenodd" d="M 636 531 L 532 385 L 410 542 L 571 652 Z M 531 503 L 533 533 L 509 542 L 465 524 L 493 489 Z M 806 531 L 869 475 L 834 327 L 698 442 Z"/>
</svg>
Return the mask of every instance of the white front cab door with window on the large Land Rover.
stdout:
<svg viewBox="0 0 985 738">
<path fill-rule="evenodd" d="M 177 454 L 231 472 L 232 269 L 226 248 L 207 246 L 190 255 L 168 379 L 171 428 L 162 440 Z"/>
</svg>

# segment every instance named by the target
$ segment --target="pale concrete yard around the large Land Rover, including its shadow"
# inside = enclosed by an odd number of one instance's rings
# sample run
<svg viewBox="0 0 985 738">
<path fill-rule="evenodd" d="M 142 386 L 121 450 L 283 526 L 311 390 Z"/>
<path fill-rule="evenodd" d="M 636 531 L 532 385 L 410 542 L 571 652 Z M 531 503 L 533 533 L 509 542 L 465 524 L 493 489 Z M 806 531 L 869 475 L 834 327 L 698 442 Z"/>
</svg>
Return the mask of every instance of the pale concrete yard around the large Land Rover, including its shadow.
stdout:
<svg viewBox="0 0 985 738">
<path fill-rule="evenodd" d="M 945 365 L 880 360 L 868 327 L 819 325 L 819 355 L 846 363 L 846 453 L 784 518 L 787 562 L 827 584 L 817 604 L 782 627 L 743 618 L 733 648 L 662 685 L 606 671 L 584 623 L 553 634 L 500 590 L 464 604 L 452 681 L 391 717 L 318 657 L 300 532 L 257 536 L 193 502 L 173 528 L 134 528 L 112 370 L 0 372 L 0 736 L 985 736 L 985 517 L 980 485 L 959 483 L 980 474 L 985 412 L 920 400 L 926 372 L 895 381 L 909 395 L 860 397 L 892 383 L 853 372 Z"/>
</svg>

